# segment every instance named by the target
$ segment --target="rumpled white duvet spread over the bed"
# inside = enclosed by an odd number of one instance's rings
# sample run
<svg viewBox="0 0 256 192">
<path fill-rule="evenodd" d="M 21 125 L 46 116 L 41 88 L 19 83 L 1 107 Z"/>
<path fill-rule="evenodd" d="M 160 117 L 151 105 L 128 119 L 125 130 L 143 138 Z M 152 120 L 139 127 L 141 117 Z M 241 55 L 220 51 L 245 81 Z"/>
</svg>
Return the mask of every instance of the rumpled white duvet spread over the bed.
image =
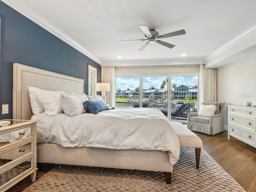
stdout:
<svg viewBox="0 0 256 192">
<path fill-rule="evenodd" d="M 117 108 L 75 117 L 59 113 L 35 114 L 37 142 L 64 147 L 98 147 L 168 151 L 175 164 L 180 155 L 178 137 L 158 109 Z"/>
</svg>

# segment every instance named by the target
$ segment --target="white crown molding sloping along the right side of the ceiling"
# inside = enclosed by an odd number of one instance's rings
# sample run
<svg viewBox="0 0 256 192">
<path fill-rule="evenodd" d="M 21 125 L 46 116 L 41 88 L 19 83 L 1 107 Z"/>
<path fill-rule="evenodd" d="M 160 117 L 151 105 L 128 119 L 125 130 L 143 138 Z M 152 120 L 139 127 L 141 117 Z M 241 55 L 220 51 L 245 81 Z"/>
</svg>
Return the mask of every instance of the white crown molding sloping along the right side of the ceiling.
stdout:
<svg viewBox="0 0 256 192">
<path fill-rule="evenodd" d="M 233 48 L 234 46 L 243 42 L 244 40 L 250 38 L 254 34 L 256 34 L 256 24 L 254 24 L 253 26 L 251 26 L 250 28 L 248 28 L 247 30 L 245 30 L 244 32 L 242 32 L 241 34 L 236 36 L 234 39 L 232 39 L 229 42 L 227 42 L 226 44 L 224 44 L 222 47 L 218 48 L 212 54 L 207 56 L 205 58 L 205 61 L 208 62 L 209 60 L 212 60 L 213 58 L 219 56 L 220 54 L 223 54 L 227 50 Z"/>
</svg>

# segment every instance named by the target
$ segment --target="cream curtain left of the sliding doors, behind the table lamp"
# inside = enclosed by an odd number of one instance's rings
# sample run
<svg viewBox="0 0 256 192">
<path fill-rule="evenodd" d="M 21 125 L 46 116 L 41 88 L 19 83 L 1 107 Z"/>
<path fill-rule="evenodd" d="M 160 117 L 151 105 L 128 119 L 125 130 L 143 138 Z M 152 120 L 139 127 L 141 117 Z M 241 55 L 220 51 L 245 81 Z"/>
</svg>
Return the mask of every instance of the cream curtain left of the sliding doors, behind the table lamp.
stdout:
<svg viewBox="0 0 256 192">
<path fill-rule="evenodd" d="M 110 91 L 106 92 L 106 104 L 109 104 L 110 107 L 116 105 L 116 91 L 115 88 L 115 67 L 101 67 L 101 82 L 110 83 Z"/>
</svg>

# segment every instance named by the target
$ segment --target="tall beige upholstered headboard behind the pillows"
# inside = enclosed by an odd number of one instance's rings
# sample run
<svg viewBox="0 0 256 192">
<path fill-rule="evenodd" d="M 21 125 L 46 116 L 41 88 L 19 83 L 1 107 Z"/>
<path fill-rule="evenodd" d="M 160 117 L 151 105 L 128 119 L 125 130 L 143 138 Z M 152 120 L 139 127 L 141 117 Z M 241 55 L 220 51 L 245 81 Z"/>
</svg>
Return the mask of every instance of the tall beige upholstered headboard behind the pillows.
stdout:
<svg viewBox="0 0 256 192">
<path fill-rule="evenodd" d="M 28 96 L 28 87 L 44 90 L 84 92 L 84 80 L 22 64 L 13 64 L 12 118 L 30 120 L 33 115 Z"/>
</svg>

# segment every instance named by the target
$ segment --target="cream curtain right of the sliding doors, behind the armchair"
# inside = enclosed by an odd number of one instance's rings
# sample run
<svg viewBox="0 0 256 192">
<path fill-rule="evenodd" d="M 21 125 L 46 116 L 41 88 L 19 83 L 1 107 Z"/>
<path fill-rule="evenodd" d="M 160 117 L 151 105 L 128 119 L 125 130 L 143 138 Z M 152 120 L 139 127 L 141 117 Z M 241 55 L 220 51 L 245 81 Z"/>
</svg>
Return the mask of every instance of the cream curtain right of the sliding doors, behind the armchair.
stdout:
<svg viewBox="0 0 256 192">
<path fill-rule="evenodd" d="M 200 64 L 199 85 L 199 98 L 201 103 L 217 102 L 216 68 L 205 68 L 204 64 Z"/>
</svg>

